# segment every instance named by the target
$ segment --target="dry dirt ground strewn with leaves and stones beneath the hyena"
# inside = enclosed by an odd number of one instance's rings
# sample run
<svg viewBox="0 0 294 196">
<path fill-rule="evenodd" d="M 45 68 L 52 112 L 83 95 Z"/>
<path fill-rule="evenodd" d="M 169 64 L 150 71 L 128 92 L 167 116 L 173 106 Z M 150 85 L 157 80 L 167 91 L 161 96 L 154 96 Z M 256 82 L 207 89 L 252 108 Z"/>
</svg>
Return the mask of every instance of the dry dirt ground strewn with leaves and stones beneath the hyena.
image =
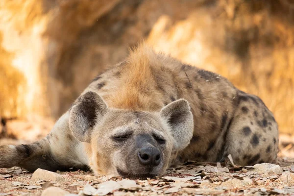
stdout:
<svg viewBox="0 0 294 196">
<path fill-rule="evenodd" d="M 0 169 L 0 196 L 39 196 L 50 186 L 68 196 L 104 195 L 294 195 L 294 158 L 279 157 L 277 165 L 237 167 L 232 162 L 188 162 L 163 177 L 128 180 L 92 172 L 58 172 L 59 181 L 36 179 L 20 168 Z M 52 192 L 49 195 L 58 196 Z M 47 195 L 46 195 L 47 196 Z"/>
</svg>

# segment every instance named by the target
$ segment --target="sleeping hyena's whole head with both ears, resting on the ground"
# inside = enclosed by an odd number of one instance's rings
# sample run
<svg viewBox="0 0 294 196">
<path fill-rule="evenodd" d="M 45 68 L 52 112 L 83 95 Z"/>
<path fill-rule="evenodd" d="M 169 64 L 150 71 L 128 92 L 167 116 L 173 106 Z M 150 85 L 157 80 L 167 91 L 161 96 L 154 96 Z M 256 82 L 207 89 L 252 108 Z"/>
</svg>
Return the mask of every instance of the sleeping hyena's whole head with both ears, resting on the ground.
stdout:
<svg viewBox="0 0 294 196">
<path fill-rule="evenodd" d="M 108 108 L 90 91 L 77 99 L 70 115 L 73 135 L 91 147 L 93 171 L 130 178 L 165 172 L 172 152 L 189 145 L 193 127 L 184 99 L 151 113 Z"/>
</svg>

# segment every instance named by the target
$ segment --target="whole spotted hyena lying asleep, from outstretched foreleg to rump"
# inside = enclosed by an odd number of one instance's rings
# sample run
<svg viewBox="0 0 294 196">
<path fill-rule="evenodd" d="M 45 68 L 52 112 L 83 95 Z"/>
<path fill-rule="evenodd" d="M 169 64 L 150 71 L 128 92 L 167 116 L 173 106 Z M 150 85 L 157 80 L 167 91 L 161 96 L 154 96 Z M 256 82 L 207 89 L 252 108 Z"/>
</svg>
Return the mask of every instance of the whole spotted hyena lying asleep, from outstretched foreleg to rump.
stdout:
<svg viewBox="0 0 294 196">
<path fill-rule="evenodd" d="M 277 123 L 260 98 L 141 46 L 96 77 L 46 138 L 0 147 L 0 167 L 140 177 L 228 154 L 239 165 L 272 162 L 277 151 Z"/>
</svg>

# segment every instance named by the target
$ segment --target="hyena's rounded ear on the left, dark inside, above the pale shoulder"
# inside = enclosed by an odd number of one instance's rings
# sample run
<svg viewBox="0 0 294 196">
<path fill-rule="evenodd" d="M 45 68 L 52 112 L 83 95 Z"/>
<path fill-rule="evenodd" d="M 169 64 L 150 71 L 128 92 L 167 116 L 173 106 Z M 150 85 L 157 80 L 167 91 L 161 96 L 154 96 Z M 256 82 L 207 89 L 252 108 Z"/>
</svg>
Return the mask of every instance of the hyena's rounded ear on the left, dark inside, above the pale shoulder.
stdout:
<svg viewBox="0 0 294 196">
<path fill-rule="evenodd" d="M 69 122 L 74 137 L 81 142 L 90 142 L 93 127 L 106 112 L 106 103 L 93 91 L 77 98 L 71 109 Z"/>
</svg>

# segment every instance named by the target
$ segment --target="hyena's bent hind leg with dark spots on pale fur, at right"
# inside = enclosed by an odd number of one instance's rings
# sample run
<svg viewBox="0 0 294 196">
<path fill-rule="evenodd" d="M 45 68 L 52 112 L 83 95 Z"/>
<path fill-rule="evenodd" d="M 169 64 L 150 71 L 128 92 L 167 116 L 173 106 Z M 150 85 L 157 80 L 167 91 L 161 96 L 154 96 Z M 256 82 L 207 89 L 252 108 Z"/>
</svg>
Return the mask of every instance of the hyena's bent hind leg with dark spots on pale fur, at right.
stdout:
<svg viewBox="0 0 294 196">
<path fill-rule="evenodd" d="M 277 123 L 263 102 L 250 96 L 235 113 L 226 135 L 224 155 L 231 154 L 236 164 L 245 166 L 274 162 L 277 152 Z"/>
</svg>

